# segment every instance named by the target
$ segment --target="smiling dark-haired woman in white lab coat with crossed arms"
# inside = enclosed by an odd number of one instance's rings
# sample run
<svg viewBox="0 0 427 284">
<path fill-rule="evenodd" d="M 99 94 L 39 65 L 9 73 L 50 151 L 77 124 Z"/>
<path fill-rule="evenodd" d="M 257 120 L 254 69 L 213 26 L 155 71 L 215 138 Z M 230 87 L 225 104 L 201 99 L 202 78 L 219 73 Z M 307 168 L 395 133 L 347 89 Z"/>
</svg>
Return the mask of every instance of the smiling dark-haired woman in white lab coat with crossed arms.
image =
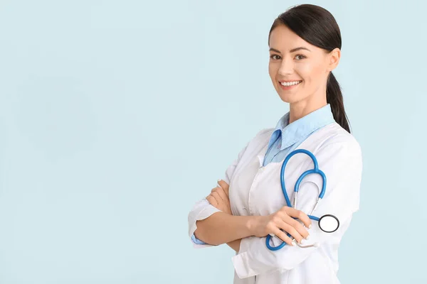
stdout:
<svg viewBox="0 0 427 284">
<path fill-rule="evenodd" d="M 339 283 L 337 249 L 359 209 L 362 153 L 350 133 L 342 93 L 332 70 L 341 56 L 341 35 L 332 14 L 320 6 L 294 6 L 275 19 L 268 38 L 269 74 L 290 111 L 275 128 L 263 129 L 238 153 L 206 199 L 189 212 L 196 248 L 228 244 L 236 251 L 234 283 Z M 300 184 L 297 208 L 287 207 L 280 185 L 286 155 L 306 149 L 317 158 L 327 187 L 315 216 L 333 214 L 339 229 L 321 231 L 311 221 L 322 178 Z M 313 168 L 305 154 L 290 158 L 285 185 L 290 198 L 297 178 Z M 271 251 L 265 238 L 271 234 Z M 290 234 L 291 237 L 288 236 Z M 300 245 L 314 244 L 310 248 Z"/>
</svg>

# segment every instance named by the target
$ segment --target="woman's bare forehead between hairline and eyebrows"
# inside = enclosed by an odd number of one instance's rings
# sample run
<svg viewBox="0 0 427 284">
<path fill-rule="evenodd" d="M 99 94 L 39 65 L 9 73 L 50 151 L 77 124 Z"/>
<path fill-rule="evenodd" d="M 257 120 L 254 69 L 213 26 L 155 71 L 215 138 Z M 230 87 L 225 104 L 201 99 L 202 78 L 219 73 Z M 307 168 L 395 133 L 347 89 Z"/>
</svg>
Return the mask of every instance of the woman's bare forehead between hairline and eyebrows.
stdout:
<svg viewBox="0 0 427 284">
<path fill-rule="evenodd" d="M 269 45 L 270 48 L 275 48 L 283 51 L 300 46 L 309 48 L 310 50 L 314 49 L 313 45 L 307 43 L 307 41 L 300 38 L 299 35 L 291 31 L 290 28 L 285 25 L 280 25 L 273 29 L 270 34 Z"/>
</svg>

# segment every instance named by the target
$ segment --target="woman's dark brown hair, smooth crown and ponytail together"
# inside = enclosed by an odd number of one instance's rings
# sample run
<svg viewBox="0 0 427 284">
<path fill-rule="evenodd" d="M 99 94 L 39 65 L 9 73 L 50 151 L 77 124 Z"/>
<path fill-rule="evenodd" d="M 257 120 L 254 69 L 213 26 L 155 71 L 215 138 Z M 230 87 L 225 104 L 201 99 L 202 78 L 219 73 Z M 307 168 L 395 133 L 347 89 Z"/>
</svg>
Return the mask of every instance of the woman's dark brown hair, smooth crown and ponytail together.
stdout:
<svg viewBox="0 0 427 284">
<path fill-rule="evenodd" d="M 277 26 L 285 25 L 300 38 L 318 48 L 332 51 L 334 48 L 341 49 L 341 32 L 334 16 L 326 9 L 312 5 L 302 4 L 293 6 L 284 13 L 281 13 L 273 22 L 268 35 Z M 334 120 L 349 133 L 349 121 L 344 110 L 344 100 L 342 98 L 341 87 L 332 72 L 327 78 L 326 100 L 331 105 Z"/>
</svg>

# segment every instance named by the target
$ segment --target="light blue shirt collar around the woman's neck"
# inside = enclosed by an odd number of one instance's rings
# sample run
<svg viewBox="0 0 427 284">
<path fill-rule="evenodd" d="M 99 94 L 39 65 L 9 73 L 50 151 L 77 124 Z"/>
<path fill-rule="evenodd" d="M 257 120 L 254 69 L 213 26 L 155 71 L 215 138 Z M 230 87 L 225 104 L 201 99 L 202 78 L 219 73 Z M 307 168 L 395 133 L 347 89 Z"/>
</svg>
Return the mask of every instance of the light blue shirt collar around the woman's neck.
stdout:
<svg viewBox="0 0 427 284">
<path fill-rule="evenodd" d="M 280 146 L 280 151 L 282 151 L 283 149 L 292 146 L 297 141 L 306 138 L 310 133 L 317 129 L 334 122 L 334 116 L 332 115 L 330 104 L 312 111 L 301 119 L 293 121 L 292 124 L 289 124 L 289 115 L 290 113 L 288 112 L 278 121 L 278 124 L 270 137 L 270 141 L 268 142 L 268 148 L 270 148 L 271 144 L 281 137 L 282 145 Z"/>
</svg>

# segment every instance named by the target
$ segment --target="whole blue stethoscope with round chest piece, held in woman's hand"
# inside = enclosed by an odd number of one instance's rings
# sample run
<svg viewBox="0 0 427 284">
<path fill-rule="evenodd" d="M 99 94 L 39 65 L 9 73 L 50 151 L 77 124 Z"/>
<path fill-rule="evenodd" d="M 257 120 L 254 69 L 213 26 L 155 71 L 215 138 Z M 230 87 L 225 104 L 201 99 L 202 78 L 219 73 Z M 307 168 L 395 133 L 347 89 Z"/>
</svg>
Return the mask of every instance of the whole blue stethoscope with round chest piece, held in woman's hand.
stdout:
<svg viewBox="0 0 427 284">
<path fill-rule="evenodd" d="M 302 175 L 300 175 L 300 178 L 298 178 L 297 182 L 295 183 L 295 188 L 294 188 L 294 204 L 293 204 L 293 207 L 295 209 L 297 209 L 297 195 L 298 195 L 298 190 L 300 189 L 301 180 L 303 178 L 305 178 L 305 176 L 310 175 L 312 173 L 319 174 L 322 177 L 322 180 L 323 180 L 322 190 L 320 191 L 320 194 L 319 194 L 319 196 L 317 197 L 317 200 L 316 200 L 316 204 L 313 207 L 312 212 L 310 213 L 310 215 L 308 215 L 308 217 L 310 219 L 312 219 L 312 220 L 317 221 L 317 224 L 319 225 L 319 228 L 322 231 L 325 231 L 325 233 L 332 233 L 334 231 L 337 231 L 337 229 L 339 227 L 339 220 L 334 215 L 325 214 L 325 215 L 323 215 L 320 218 L 312 216 L 312 214 L 313 214 L 313 212 L 315 212 L 315 209 L 317 208 L 317 205 L 319 204 L 320 200 L 325 195 L 325 191 L 326 191 L 326 175 L 325 175 L 325 173 L 322 172 L 322 170 L 319 170 L 319 165 L 317 164 L 317 159 L 316 159 L 315 155 L 313 155 L 310 151 L 307 151 L 305 149 L 297 149 L 295 151 L 292 151 L 285 158 L 285 160 L 283 161 L 282 169 L 280 170 L 280 183 L 282 185 L 282 191 L 283 191 L 283 195 L 285 196 L 286 204 L 288 205 L 288 207 L 292 207 L 292 205 L 290 204 L 289 197 L 288 197 L 288 192 L 286 192 L 286 188 L 285 188 L 285 168 L 286 168 L 286 164 L 288 163 L 288 161 L 290 160 L 290 158 L 292 158 L 292 156 L 295 155 L 295 154 L 297 154 L 297 153 L 305 153 L 305 154 L 309 155 L 310 158 L 312 158 L 313 163 L 315 164 L 315 168 L 313 168 L 312 170 L 307 170 L 304 173 L 302 173 Z M 288 234 L 288 236 L 290 236 L 290 234 Z M 265 244 L 267 245 L 267 248 L 270 249 L 270 251 L 277 251 L 279 249 L 282 249 L 283 246 L 286 245 L 286 243 L 283 241 L 283 243 L 280 244 L 279 246 L 270 246 L 270 239 L 271 239 L 271 235 L 268 235 L 267 239 L 265 239 Z M 317 247 L 317 246 L 319 246 L 318 243 L 314 243 L 314 244 L 310 244 L 310 245 L 306 245 L 306 246 L 302 246 L 301 244 L 298 244 L 297 241 L 295 241 L 295 243 L 300 248 L 310 248 L 310 247 Z"/>
</svg>

